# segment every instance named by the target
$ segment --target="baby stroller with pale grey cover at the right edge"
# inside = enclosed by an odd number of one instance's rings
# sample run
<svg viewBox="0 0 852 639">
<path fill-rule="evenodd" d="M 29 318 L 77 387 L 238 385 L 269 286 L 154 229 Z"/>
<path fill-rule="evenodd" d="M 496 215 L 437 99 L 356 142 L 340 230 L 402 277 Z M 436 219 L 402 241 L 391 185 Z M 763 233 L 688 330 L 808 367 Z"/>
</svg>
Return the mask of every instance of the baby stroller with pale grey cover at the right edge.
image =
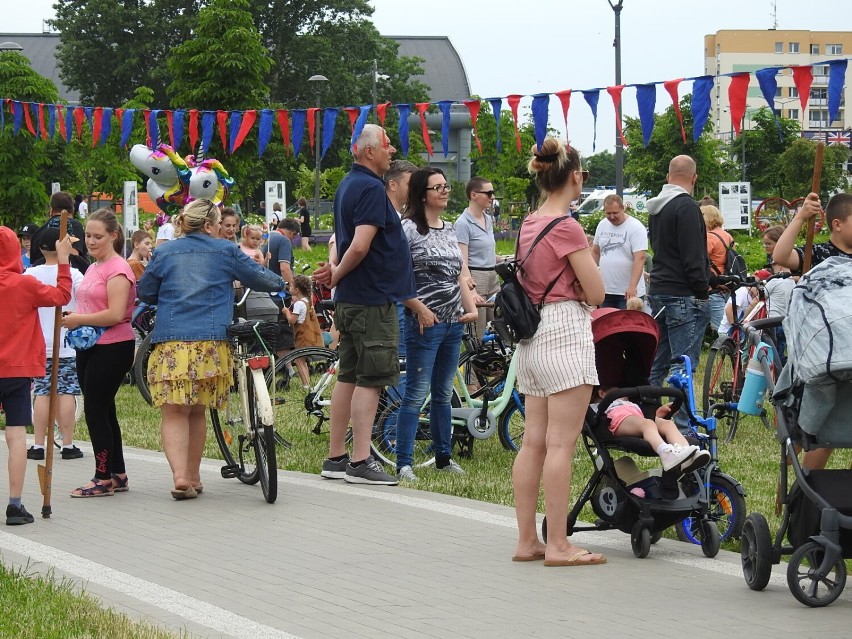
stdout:
<svg viewBox="0 0 852 639">
<path fill-rule="evenodd" d="M 830 258 L 802 277 L 790 296 L 784 332 L 787 364 L 772 404 L 781 444 L 781 526 L 774 542 L 766 518 L 751 513 L 741 540 L 743 576 L 752 590 L 791 555 L 787 586 L 806 606 L 834 602 L 852 558 L 852 470 L 808 470 L 797 448 L 852 448 L 852 260 Z M 788 465 L 789 464 L 789 465 Z M 789 468 L 794 483 L 787 489 Z M 787 544 L 783 543 L 787 538 Z"/>
</svg>

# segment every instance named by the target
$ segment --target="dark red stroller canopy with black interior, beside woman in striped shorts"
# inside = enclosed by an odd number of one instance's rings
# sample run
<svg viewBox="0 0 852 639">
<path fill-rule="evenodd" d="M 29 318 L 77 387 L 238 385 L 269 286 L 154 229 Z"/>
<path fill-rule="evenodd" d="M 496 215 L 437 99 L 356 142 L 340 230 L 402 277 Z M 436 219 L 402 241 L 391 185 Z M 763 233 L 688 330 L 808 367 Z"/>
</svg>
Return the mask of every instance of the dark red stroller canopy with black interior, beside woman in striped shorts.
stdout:
<svg viewBox="0 0 852 639">
<path fill-rule="evenodd" d="M 642 311 L 599 308 L 592 313 L 595 362 L 602 386 L 641 386 L 648 383 L 659 328 Z"/>
</svg>

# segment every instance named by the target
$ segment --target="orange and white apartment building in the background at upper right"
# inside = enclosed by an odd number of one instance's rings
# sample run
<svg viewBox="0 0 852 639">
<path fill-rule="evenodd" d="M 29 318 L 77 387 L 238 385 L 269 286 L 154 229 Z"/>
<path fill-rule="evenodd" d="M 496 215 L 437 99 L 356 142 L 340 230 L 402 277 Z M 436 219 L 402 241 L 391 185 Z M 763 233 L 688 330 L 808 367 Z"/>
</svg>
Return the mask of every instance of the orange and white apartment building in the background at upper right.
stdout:
<svg viewBox="0 0 852 639">
<path fill-rule="evenodd" d="M 799 92 L 793 83 L 793 73 L 784 69 L 776 76 L 778 89 L 775 93 L 775 108 L 782 117 L 798 120 L 804 135 L 817 137 L 827 132 L 839 132 L 852 127 L 852 113 L 847 108 L 852 97 L 852 65 L 846 71 L 846 82 L 840 109 L 831 122 L 828 121 L 828 65 L 833 59 L 852 57 L 852 32 L 849 31 L 717 31 L 704 36 L 704 72 L 709 75 L 754 72 L 774 66 L 814 65 L 814 81 L 808 107 L 802 111 Z M 733 132 L 728 104 L 728 87 L 731 80 L 719 78 L 713 89 L 713 106 L 710 117 L 715 132 L 721 138 Z M 757 78 L 751 77 L 746 100 L 745 125 L 748 129 L 749 114 L 766 106 Z"/>
</svg>

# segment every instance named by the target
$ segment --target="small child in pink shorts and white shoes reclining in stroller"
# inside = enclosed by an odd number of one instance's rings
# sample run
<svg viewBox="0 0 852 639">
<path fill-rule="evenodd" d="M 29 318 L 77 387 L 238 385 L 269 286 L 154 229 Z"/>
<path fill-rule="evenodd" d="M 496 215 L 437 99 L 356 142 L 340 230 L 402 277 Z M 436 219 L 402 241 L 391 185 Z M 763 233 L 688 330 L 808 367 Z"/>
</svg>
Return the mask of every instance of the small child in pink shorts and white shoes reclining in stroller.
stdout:
<svg viewBox="0 0 852 639">
<path fill-rule="evenodd" d="M 600 387 L 598 397 L 603 399 L 611 387 Z M 691 473 L 704 468 L 710 462 L 710 453 L 692 446 L 670 419 L 671 405 L 660 406 L 654 420 L 647 419 L 642 409 L 626 399 L 617 399 L 606 410 L 609 417 L 609 431 L 619 437 L 642 437 L 648 442 L 660 460 L 663 470 L 675 468 L 680 474 Z"/>
</svg>

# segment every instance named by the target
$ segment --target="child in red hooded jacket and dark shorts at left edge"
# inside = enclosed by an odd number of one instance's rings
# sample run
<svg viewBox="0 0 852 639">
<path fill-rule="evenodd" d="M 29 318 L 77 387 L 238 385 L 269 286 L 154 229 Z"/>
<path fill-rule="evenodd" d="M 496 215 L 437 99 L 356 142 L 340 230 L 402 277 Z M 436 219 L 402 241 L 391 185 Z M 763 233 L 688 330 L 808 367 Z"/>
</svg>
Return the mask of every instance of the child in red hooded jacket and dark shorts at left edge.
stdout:
<svg viewBox="0 0 852 639">
<path fill-rule="evenodd" d="M 71 299 L 71 238 L 56 243 L 59 272 L 56 286 L 22 275 L 21 246 L 12 229 L 0 226 L 0 403 L 6 413 L 9 449 L 9 505 L 6 525 L 31 524 L 33 516 L 21 503 L 27 469 L 27 431 L 32 424 L 30 384 L 46 368 L 44 336 L 38 319 L 40 306 L 62 306 Z"/>
</svg>

